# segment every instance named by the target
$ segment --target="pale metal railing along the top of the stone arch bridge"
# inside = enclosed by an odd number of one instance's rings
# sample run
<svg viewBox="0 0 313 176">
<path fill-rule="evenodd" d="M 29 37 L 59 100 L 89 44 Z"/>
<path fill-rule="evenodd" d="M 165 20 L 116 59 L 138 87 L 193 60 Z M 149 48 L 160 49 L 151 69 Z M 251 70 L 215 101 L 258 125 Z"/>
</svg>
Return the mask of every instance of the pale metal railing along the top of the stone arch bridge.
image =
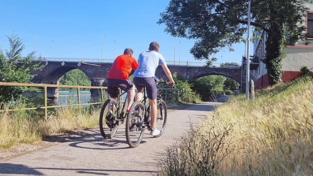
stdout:
<svg viewBox="0 0 313 176">
<path fill-rule="evenodd" d="M 37 61 L 52 61 L 52 62 L 84 62 L 84 63 L 113 63 L 115 59 L 98 59 L 98 58 L 38 58 Z M 188 67 L 204 67 L 207 66 L 206 62 L 189 62 L 189 61 L 166 61 L 167 65 L 175 65 L 175 66 L 188 66 Z M 240 65 L 234 64 L 225 64 L 225 63 L 211 63 L 209 67 L 228 67 L 228 68 L 236 68 L 240 67 Z"/>
</svg>

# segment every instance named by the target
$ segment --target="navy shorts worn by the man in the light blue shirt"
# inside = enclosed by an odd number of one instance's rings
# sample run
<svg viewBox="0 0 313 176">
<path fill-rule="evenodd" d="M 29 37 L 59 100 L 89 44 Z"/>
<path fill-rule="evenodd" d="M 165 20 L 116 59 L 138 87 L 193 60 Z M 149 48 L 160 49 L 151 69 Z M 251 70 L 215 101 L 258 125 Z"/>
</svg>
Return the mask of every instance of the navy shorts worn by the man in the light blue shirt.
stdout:
<svg viewBox="0 0 313 176">
<path fill-rule="evenodd" d="M 154 80 L 154 77 L 149 77 L 149 78 L 134 77 L 133 81 L 138 91 L 143 90 L 143 87 L 144 87 L 142 85 L 139 85 L 140 83 L 146 85 L 146 92 L 147 92 L 148 98 L 151 100 L 156 99 L 157 88 L 156 88 L 156 82 Z"/>
</svg>

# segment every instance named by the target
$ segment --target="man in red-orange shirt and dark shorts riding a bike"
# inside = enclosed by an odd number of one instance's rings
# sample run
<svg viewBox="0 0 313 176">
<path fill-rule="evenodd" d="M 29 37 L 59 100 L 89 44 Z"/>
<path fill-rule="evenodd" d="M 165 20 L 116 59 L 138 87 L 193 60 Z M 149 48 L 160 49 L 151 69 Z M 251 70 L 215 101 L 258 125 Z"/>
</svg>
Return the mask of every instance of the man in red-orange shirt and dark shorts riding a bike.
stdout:
<svg viewBox="0 0 313 176">
<path fill-rule="evenodd" d="M 127 112 L 131 108 L 135 97 L 135 87 L 128 77 L 138 68 L 136 59 L 132 57 L 133 53 L 131 48 L 126 48 L 124 54 L 115 59 L 108 73 L 107 85 L 110 97 L 117 98 L 118 88 L 127 92 Z"/>
</svg>

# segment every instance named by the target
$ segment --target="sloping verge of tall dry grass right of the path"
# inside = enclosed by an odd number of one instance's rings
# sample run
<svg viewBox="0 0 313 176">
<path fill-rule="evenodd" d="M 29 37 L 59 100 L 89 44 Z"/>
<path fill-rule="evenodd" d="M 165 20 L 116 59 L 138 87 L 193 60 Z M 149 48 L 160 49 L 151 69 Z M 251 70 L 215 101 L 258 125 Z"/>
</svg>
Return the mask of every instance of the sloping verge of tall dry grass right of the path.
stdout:
<svg viewBox="0 0 313 176">
<path fill-rule="evenodd" d="M 159 175 L 312 175 L 313 80 L 230 98 L 191 129 L 167 149 Z"/>
</svg>

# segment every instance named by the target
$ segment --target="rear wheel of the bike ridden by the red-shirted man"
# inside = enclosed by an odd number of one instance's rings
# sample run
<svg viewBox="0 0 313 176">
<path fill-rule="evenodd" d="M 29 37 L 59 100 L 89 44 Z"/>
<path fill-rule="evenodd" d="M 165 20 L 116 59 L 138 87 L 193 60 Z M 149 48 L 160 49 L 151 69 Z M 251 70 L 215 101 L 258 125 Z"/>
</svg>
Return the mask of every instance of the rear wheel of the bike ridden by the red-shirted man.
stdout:
<svg viewBox="0 0 313 176">
<path fill-rule="evenodd" d="M 110 112 L 109 112 L 109 105 L 111 106 L 112 109 L 112 116 L 110 117 Z M 112 108 L 112 106 L 114 106 Z M 105 103 L 102 106 L 101 112 L 100 112 L 100 118 L 99 118 L 99 127 L 100 127 L 100 132 L 103 138 L 105 139 L 110 139 L 113 138 L 115 135 L 117 128 L 118 128 L 118 123 L 116 122 L 116 117 L 119 113 L 117 112 L 117 102 L 114 99 L 108 99 L 105 101 Z M 106 125 L 106 119 L 110 121 L 109 125 Z"/>
</svg>

